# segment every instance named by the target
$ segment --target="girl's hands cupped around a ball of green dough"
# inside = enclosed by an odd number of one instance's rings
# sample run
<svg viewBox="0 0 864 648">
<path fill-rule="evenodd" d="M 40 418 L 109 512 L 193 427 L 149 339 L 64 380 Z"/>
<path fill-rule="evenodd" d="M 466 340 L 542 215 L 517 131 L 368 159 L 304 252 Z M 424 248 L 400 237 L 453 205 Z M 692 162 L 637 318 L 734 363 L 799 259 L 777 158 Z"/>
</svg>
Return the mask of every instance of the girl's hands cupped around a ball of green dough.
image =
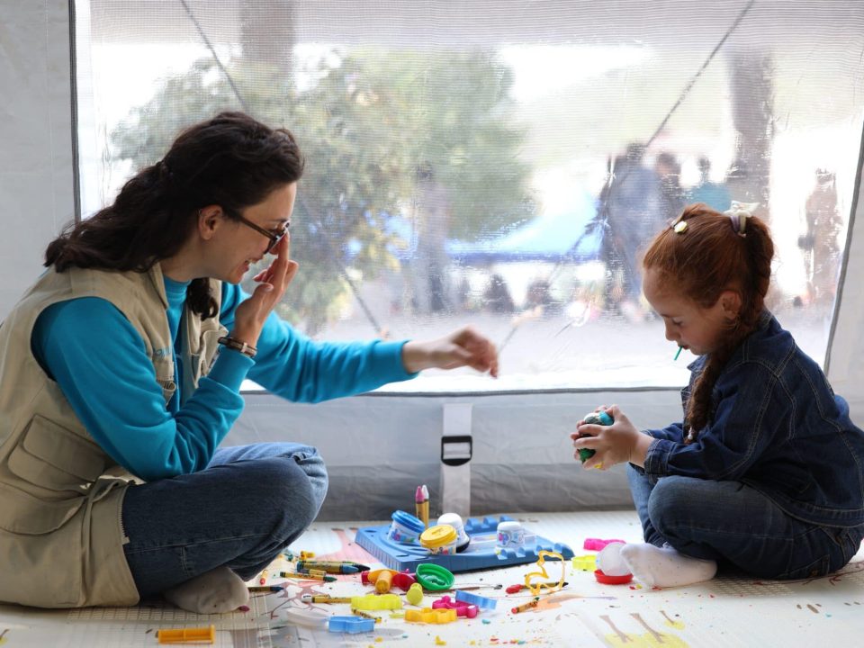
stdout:
<svg viewBox="0 0 864 648">
<path fill-rule="evenodd" d="M 636 429 L 617 405 L 613 405 L 606 411 L 615 421 L 610 426 L 579 422 L 576 432 L 570 435 L 575 448 L 573 456 L 579 459 L 581 448 L 594 450 L 594 455 L 582 464 L 586 469 L 608 470 L 615 464 L 625 462 L 643 465 L 647 446 L 650 445 L 652 438 Z"/>
</svg>

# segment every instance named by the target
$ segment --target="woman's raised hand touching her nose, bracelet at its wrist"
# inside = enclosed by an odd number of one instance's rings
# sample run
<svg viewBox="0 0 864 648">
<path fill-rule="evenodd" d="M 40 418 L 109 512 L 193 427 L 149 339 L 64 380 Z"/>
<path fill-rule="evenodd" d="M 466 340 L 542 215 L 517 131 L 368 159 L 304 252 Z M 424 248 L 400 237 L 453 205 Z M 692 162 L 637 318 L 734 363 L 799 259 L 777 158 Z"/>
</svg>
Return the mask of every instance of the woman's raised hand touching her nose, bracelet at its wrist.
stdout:
<svg viewBox="0 0 864 648">
<path fill-rule="evenodd" d="M 261 329 L 267 316 L 279 303 L 285 293 L 288 284 L 291 284 L 294 275 L 297 274 L 296 261 L 292 261 L 291 235 L 285 234 L 273 248 L 275 259 L 269 267 L 255 275 L 255 281 L 259 283 L 255 292 L 247 300 L 240 302 L 234 311 L 234 329 L 231 330 L 231 338 L 246 342 L 247 345 L 255 347 Z"/>
</svg>

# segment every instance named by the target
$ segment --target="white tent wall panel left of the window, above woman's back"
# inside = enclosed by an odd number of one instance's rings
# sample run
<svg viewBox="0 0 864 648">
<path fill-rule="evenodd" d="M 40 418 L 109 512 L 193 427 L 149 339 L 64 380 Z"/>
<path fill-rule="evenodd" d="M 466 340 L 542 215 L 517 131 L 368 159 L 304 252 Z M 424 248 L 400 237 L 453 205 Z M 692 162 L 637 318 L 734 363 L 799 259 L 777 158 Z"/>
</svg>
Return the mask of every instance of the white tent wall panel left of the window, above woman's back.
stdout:
<svg viewBox="0 0 864 648">
<path fill-rule="evenodd" d="M 69 33 L 65 0 L 0 0 L 0 318 L 75 217 Z"/>
</svg>

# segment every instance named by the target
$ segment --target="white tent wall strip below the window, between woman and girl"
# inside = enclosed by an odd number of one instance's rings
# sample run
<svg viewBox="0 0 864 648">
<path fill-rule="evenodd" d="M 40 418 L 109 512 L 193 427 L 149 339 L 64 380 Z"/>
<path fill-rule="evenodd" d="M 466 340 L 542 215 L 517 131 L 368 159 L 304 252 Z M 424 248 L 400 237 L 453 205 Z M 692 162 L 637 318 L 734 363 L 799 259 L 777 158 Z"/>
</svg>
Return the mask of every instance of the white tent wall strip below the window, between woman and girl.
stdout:
<svg viewBox="0 0 864 648">
<path fill-rule="evenodd" d="M 624 466 L 589 474 L 573 460 L 569 432 L 601 403 L 626 402 L 630 415 L 662 427 L 680 410 L 677 391 L 509 393 L 472 396 L 368 394 L 298 405 L 248 394 L 226 443 L 285 438 L 319 448 L 330 489 L 321 517 L 389 518 L 412 510 L 426 483 L 442 512 L 441 438 L 450 404 L 472 405 L 471 513 L 617 509 L 632 506 Z M 445 509 L 450 507 L 444 505 Z"/>
</svg>

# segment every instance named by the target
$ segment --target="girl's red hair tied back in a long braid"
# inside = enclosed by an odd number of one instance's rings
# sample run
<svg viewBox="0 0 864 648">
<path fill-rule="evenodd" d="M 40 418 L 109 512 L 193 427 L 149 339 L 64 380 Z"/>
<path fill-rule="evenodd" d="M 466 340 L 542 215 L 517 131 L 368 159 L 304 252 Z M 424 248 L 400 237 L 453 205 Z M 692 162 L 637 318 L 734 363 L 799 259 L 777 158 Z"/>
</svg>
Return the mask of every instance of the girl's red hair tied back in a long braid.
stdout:
<svg viewBox="0 0 864 648">
<path fill-rule="evenodd" d="M 675 222 L 679 221 L 687 222 L 680 233 L 670 227 L 654 238 L 643 258 L 644 269 L 657 271 L 662 287 L 701 308 L 714 306 L 729 289 L 740 293 L 742 299 L 738 319 L 730 322 L 729 335 L 708 356 L 693 385 L 686 412 L 691 440 L 707 426 L 711 392 L 721 370 L 759 322 L 770 284 L 774 243 L 761 219 L 748 217 L 746 236 L 742 237 L 729 216 L 701 202 L 686 206 Z"/>
</svg>

